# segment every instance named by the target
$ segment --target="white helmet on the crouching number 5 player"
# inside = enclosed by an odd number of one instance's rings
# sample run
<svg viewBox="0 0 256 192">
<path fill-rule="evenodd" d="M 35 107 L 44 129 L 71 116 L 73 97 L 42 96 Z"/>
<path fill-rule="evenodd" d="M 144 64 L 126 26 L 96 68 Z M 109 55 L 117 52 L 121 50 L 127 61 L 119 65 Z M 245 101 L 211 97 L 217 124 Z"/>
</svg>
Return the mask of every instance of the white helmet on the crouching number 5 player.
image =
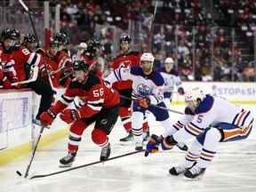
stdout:
<svg viewBox="0 0 256 192">
<path fill-rule="evenodd" d="M 188 104 L 192 101 L 196 107 L 198 107 L 198 105 L 201 101 L 204 100 L 204 98 L 205 94 L 199 87 L 193 88 L 188 92 L 185 92 L 185 102 Z"/>
</svg>

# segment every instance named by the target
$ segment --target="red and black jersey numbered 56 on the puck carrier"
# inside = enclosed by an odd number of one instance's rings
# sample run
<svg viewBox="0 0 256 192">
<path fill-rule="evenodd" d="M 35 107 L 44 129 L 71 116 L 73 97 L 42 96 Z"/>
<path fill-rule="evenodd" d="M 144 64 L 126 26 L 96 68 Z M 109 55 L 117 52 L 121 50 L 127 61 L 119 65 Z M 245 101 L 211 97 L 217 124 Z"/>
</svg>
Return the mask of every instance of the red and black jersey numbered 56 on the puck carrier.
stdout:
<svg viewBox="0 0 256 192">
<path fill-rule="evenodd" d="M 76 108 L 82 118 L 91 117 L 99 113 L 101 108 L 112 108 L 119 103 L 119 94 L 99 76 L 90 73 L 85 84 L 78 83 L 76 79 L 69 84 L 66 92 L 52 107 L 52 112 L 60 113 L 76 96 L 81 100 Z"/>
</svg>

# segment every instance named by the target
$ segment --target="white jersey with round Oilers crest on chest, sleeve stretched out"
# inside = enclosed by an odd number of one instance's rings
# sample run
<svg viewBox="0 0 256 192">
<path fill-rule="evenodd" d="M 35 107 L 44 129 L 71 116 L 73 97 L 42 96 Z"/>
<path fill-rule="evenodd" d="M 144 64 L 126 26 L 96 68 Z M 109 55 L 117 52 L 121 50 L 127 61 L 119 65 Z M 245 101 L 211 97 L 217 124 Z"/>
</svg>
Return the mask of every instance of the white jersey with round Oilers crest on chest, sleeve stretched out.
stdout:
<svg viewBox="0 0 256 192">
<path fill-rule="evenodd" d="M 153 71 L 150 75 L 145 75 L 140 67 L 120 67 L 112 71 L 105 81 L 113 84 L 120 80 L 132 80 L 132 98 L 143 99 L 153 95 L 157 103 L 164 99 L 162 88 L 164 78 L 158 71 Z"/>
</svg>

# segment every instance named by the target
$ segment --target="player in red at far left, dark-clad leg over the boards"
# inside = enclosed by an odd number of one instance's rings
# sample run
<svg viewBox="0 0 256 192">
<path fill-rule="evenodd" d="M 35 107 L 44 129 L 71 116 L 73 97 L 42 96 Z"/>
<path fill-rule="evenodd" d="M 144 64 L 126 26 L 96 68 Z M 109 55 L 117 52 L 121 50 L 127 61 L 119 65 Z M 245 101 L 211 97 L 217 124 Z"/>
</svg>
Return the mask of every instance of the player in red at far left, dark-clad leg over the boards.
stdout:
<svg viewBox="0 0 256 192">
<path fill-rule="evenodd" d="M 16 29 L 4 29 L 1 36 L 3 42 L 15 39 L 14 44 L 4 52 L 9 56 L 9 61 L 12 61 L 13 67 L 17 73 L 18 81 L 28 80 L 34 68 L 37 68 L 39 63 L 42 61 L 41 56 L 36 52 L 29 52 L 29 50 L 19 45 L 20 32 Z M 54 92 L 50 84 L 46 84 L 40 75 L 37 76 L 36 81 L 23 85 L 22 87 L 31 88 L 37 94 L 41 95 L 40 105 L 36 120 L 39 120 L 39 116 L 43 111 L 51 107 L 52 98 Z M 38 121 L 35 121 L 38 123 Z"/>
</svg>

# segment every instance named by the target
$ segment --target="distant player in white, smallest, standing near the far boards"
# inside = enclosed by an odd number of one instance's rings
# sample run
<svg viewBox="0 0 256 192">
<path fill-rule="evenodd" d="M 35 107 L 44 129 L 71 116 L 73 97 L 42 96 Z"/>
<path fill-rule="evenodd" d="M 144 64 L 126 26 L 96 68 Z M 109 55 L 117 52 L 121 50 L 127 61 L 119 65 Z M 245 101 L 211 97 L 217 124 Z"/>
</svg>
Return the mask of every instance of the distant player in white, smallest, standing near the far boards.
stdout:
<svg viewBox="0 0 256 192">
<path fill-rule="evenodd" d="M 184 95 L 184 89 L 181 84 L 180 76 L 173 74 L 172 66 L 174 61 L 172 58 L 164 60 L 164 68 L 160 69 L 160 74 L 164 77 L 164 104 L 167 108 L 171 108 L 172 92 L 177 90 L 180 95 Z"/>
</svg>

